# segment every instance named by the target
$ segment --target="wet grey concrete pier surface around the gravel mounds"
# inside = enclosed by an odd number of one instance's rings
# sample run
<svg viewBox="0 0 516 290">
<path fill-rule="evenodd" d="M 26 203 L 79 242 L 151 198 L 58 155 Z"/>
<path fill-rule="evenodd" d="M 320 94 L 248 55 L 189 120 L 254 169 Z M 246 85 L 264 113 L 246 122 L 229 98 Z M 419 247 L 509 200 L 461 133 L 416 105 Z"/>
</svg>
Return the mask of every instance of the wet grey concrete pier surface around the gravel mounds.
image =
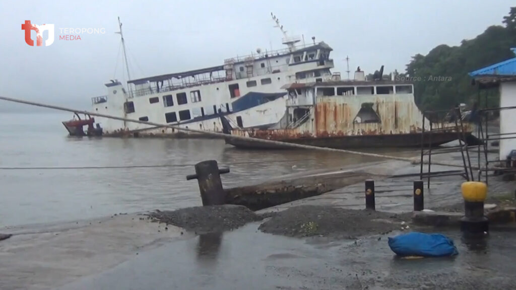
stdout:
<svg viewBox="0 0 516 290">
<path fill-rule="evenodd" d="M 432 158 L 456 160 L 453 154 Z M 256 213 L 266 215 L 304 204 L 363 210 L 366 179 L 375 180 L 376 211 L 412 212 L 414 177 L 389 176 L 414 173 L 418 168 L 406 162 L 380 160 L 353 168 L 279 176 L 270 184 L 295 184 L 296 180 L 298 185 L 307 181 L 318 184 L 326 180 L 340 188 Z M 455 210 L 458 221 L 463 215 L 462 182 L 460 176 L 432 178 L 429 189 L 424 185 L 425 208 Z M 514 182 L 497 182 L 492 178 L 489 187 L 487 202 L 489 197 L 506 195 L 511 189 L 513 192 Z M 0 232 L 12 236 L 0 241 L 0 288 L 227 289 L 246 285 L 256 289 L 295 289 L 308 285 L 326 289 L 345 285 L 397 289 L 418 287 L 421 281 L 428 287 L 439 288 L 468 288 L 470 282 L 476 289 L 516 286 L 516 268 L 512 263 L 516 249 L 514 233 L 510 231 L 497 232 L 493 228 L 488 245 L 484 246 L 488 250 L 475 252 L 477 248 L 472 251 L 471 245 L 461 241 L 458 228 L 439 229 L 458 244 L 458 260 L 427 263 L 425 259 L 399 261 L 386 245 L 388 236 L 410 231 L 412 224 L 410 229 L 400 224 L 399 232 L 337 241 L 318 236 L 297 239 L 264 234 L 258 230 L 260 224 L 253 222 L 231 232 L 198 236 L 173 225 L 151 222 L 144 215 L 129 214 L 66 224 L 2 228 Z M 414 268 L 418 270 L 412 271 Z M 491 284 L 486 277 L 492 277 L 496 283 Z"/>
</svg>

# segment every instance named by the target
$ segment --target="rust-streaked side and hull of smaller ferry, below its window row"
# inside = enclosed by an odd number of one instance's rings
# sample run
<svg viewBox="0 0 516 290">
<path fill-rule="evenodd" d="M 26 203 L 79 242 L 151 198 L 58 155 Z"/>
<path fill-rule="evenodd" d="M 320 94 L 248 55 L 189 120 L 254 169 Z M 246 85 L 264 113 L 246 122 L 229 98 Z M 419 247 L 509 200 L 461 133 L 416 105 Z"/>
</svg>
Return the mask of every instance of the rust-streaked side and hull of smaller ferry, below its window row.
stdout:
<svg viewBox="0 0 516 290">
<path fill-rule="evenodd" d="M 371 105 L 370 110 L 360 115 L 364 103 Z M 310 115 L 294 128 L 232 129 L 231 135 L 334 149 L 419 147 L 422 142 L 425 146 L 439 146 L 457 139 L 457 128 L 451 123 L 432 123 L 433 128 L 439 130 L 425 132 L 422 139 L 423 114 L 413 102 L 412 94 L 317 96 Z M 359 122 L 362 121 L 359 116 L 371 118 L 374 115 L 378 118 L 376 121 Z M 429 130 L 428 126 L 425 126 L 425 131 Z M 469 124 L 464 131 L 466 137 L 471 134 Z M 242 148 L 289 148 L 253 139 L 227 138 L 226 142 Z"/>
</svg>

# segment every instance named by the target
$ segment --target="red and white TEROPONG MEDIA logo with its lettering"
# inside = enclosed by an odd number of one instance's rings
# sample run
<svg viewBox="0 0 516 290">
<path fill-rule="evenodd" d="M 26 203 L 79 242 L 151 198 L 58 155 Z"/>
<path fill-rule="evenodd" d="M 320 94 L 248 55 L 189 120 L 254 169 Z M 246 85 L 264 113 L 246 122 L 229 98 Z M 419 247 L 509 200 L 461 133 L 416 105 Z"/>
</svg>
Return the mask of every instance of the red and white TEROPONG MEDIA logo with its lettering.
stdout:
<svg viewBox="0 0 516 290">
<path fill-rule="evenodd" d="M 36 46 L 43 46 L 43 32 L 48 31 L 48 38 L 45 40 L 44 46 L 50 46 L 52 43 L 54 43 L 55 39 L 55 28 L 54 24 L 43 24 L 43 25 L 37 25 L 30 23 L 30 20 L 25 20 L 25 23 L 22 24 L 22 30 L 25 30 L 25 43 L 27 43 L 30 46 L 34 45 L 34 40 L 31 38 L 30 34 L 31 31 L 36 31 Z M 59 40 L 82 40 L 80 37 L 84 34 L 105 34 L 106 29 L 105 28 L 72 28 L 72 27 L 66 27 L 66 28 L 59 28 Z"/>
</svg>

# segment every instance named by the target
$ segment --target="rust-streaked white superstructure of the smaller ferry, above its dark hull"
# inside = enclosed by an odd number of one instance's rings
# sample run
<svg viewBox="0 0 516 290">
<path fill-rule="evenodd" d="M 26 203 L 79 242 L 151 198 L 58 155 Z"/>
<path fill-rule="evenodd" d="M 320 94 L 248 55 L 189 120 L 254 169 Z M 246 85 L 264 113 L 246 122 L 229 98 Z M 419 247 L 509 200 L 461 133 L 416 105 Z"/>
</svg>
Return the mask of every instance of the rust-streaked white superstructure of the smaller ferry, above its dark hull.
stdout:
<svg viewBox="0 0 516 290">
<path fill-rule="evenodd" d="M 389 123 L 401 120 L 422 126 L 423 115 L 409 82 L 394 78 L 366 80 L 364 72 L 357 71 L 351 80 L 289 84 L 284 88 L 288 91 L 287 114 L 271 128 L 295 128 L 309 119 L 313 122 L 313 118 L 335 119 L 339 124 L 381 123 L 382 118 L 388 118 Z"/>
</svg>

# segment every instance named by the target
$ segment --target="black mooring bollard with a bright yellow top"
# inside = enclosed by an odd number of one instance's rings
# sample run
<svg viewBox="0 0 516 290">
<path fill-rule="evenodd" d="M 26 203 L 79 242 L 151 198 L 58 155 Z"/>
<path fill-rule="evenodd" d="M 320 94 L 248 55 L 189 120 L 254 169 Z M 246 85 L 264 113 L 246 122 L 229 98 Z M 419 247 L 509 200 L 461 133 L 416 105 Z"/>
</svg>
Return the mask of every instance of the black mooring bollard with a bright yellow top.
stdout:
<svg viewBox="0 0 516 290">
<path fill-rule="evenodd" d="M 484 216 L 484 201 L 487 197 L 487 185 L 482 182 L 464 182 L 461 185 L 464 198 L 464 217 L 460 220 L 460 229 L 465 234 L 482 236 L 489 231 L 489 220 Z"/>
</svg>

